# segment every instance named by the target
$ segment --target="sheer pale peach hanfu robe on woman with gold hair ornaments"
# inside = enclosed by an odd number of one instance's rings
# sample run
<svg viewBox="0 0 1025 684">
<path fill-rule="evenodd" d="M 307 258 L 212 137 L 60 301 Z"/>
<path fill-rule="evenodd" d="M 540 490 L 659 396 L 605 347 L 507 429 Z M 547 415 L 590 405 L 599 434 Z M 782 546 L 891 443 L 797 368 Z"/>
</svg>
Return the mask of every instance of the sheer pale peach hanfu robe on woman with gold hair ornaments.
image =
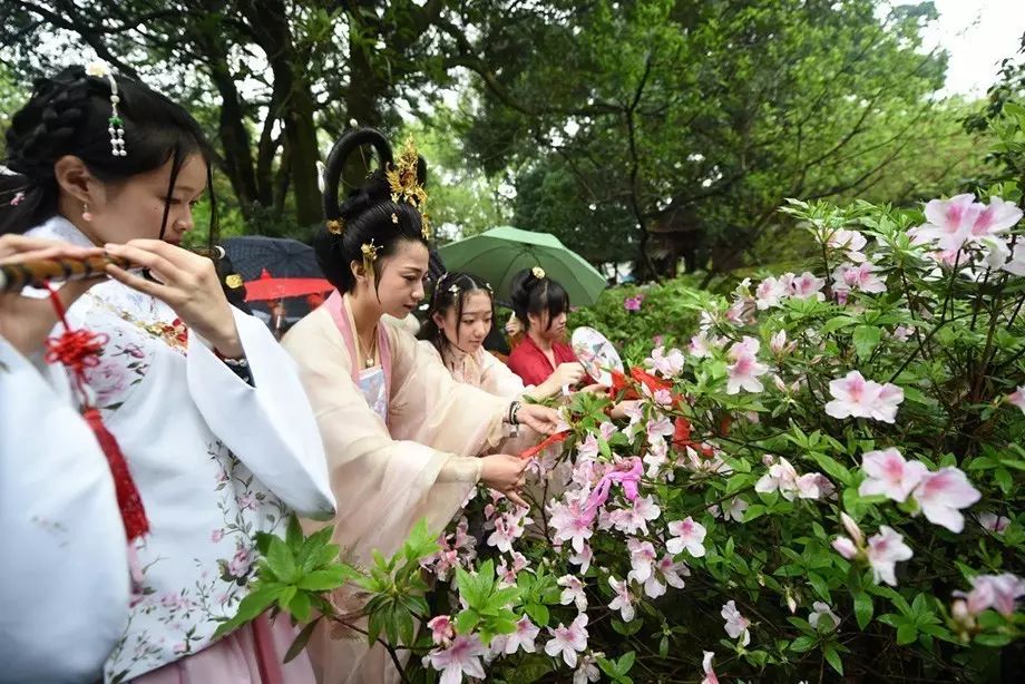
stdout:
<svg viewBox="0 0 1025 684">
<path fill-rule="evenodd" d="M 299 363 L 324 440 L 339 500 L 333 540 L 346 560 L 365 565 L 373 549 L 398 550 L 421 518 L 440 531 L 460 510 L 480 479 L 477 456 L 502 451 L 509 399 L 453 381 L 401 324 L 382 321 L 377 348 L 387 402 L 380 410 L 379 375 L 353 361 L 363 358 L 353 329 L 348 296 L 334 293 L 282 344 Z M 360 607 L 344 589 L 335 603 L 342 610 Z M 359 634 L 322 624 L 309 649 L 321 682 L 398 681 L 385 651 L 368 648 Z"/>
</svg>

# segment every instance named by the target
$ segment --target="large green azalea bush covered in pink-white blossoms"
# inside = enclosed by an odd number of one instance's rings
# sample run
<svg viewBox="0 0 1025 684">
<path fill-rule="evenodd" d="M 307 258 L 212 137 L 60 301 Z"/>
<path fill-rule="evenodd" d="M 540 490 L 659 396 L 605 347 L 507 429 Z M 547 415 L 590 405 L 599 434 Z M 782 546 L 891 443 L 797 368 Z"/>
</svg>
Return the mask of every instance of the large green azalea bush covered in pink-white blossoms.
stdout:
<svg viewBox="0 0 1025 684">
<path fill-rule="evenodd" d="M 608 397 L 574 395 L 525 455 L 529 508 L 481 490 L 371 568 L 316 569 L 332 550 L 293 539 L 304 560 L 270 558 L 255 594 L 351 623 L 313 588 L 351 582 L 410 682 L 1014 676 L 1021 201 L 791 202 L 819 258 L 679 292 L 686 343 L 628 348 Z"/>
</svg>

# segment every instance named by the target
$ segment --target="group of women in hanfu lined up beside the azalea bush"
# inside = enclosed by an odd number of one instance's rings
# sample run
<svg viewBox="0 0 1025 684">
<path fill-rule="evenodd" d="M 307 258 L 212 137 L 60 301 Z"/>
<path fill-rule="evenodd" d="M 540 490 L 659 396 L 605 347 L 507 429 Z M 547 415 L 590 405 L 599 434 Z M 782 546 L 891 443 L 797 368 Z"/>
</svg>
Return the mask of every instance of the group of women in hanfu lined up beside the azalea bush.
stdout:
<svg viewBox="0 0 1025 684">
<path fill-rule="evenodd" d="M 255 535 L 293 514 L 359 564 L 422 519 L 442 529 L 478 483 L 520 501 L 520 455 L 559 422 L 543 400 L 590 384 L 566 290 L 518 270 L 497 330 L 487 281 L 431 267 L 412 143 L 350 129 L 308 241 L 333 291 L 279 341 L 216 250 L 182 246 L 201 199 L 216 236 L 214 154 L 182 106 L 74 66 L 6 136 L 0 681 L 393 680 L 383 648 L 326 631 L 285 663 L 285 616 L 214 633 L 248 592 Z M 342 196 L 368 146 L 377 168 Z M 507 358 L 486 349 L 502 330 Z"/>
</svg>

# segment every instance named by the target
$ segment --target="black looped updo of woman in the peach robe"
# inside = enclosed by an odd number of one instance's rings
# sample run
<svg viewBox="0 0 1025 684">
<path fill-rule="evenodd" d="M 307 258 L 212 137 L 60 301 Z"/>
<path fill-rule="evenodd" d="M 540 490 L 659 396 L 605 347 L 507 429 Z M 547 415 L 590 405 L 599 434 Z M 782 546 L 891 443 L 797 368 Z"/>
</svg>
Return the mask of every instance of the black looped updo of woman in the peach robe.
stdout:
<svg viewBox="0 0 1025 684">
<path fill-rule="evenodd" d="M 339 185 L 345 162 L 363 145 L 373 147 L 379 168 L 339 206 Z M 404 153 L 403 153 L 404 154 Z M 380 283 L 380 264 L 394 254 L 403 241 L 427 246 L 420 208 L 394 193 L 387 170 L 393 167 L 391 146 L 379 130 L 359 128 L 345 131 L 328 156 L 324 170 L 324 222 L 313 238 L 313 250 L 324 277 L 340 292 L 355 289 L 352 262 L 363 261 L 363 245 L 373 245 L 374 290 Z M 416 162 L 417 182 L 427 182 L 427 164 Z"/>
</svg>

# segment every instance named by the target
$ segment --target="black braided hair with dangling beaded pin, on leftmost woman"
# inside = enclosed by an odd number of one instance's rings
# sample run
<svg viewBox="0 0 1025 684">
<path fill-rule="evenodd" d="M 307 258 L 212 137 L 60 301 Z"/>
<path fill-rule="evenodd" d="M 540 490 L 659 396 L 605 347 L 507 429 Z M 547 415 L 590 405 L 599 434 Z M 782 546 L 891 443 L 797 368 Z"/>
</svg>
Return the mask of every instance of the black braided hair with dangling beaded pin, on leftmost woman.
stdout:
<svg viewBox="0 0 1025 684">
<path fill-rule="evenodd" d="M 59 187 L 53 165 L 66 155 L 80 158 L 104 183 L 125 182 L 173 162 L 170 197 L 185 160 L 198 154 L 207 165 L 211 238 L 216 234 L 216 201 L 211 183 L 211 146 L 196 120 L 180 106 L 139 81 L 117 82 L 124 156 L 111 153 L 108 130 L 111 88 L 107 77 L 67 67 L 35 84 L 31 99 L 14 114 L 7 131 L 7 159 L 12 174 L 0 173 L 0 235 L 23 233 L 57 214 Z M 165 204 L 160 236 L 170 207 Z"/>
</svg>

